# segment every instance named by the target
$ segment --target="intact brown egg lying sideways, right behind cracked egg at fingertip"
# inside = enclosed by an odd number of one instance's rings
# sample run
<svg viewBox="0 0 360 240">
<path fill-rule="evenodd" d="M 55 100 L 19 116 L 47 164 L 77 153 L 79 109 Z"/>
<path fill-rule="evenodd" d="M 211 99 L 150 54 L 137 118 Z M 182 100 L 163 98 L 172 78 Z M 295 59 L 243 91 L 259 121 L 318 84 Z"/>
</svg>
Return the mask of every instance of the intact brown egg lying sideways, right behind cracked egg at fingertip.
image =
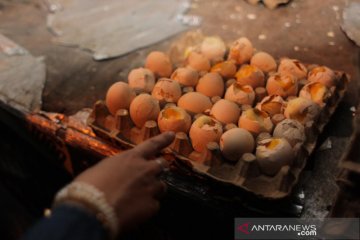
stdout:
<svg viewBox="0 0 360 240">
<path fill-rule="evenodd" d="M 210 98 L 202 93 L 189 92 L 180 97 L 178 106 L 185 109 L 191 115 L 195 115 L 211 109 L 212 103 Z"/>
</svg>

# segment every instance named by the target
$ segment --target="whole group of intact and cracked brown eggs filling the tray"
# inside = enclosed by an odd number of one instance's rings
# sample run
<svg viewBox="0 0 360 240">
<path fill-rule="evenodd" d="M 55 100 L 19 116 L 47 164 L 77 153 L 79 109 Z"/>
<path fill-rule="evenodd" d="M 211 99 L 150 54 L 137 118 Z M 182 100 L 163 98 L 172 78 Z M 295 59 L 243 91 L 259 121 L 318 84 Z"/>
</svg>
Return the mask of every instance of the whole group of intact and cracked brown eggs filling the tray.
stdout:
<svg viewBox="0 0 360 240">
<path fill-rule="evenodd" d="M 128 109 L 137 128 L 154 120 L 161 132 L 184 132 L 196 152 L 216 142 L 229 162 L 253 153 L 267 175 L 291 164 L 306 140 L 305 126 L 316 121 L 336 85 L 331 69 L 308 69 L 289 58 L 277 62 L 255 52 L 247 38 L 228 48 L 207 37 L 185 54 L 183 66 L 174 69 L 166 54 L 151 52 L 128 83 L 109 88 L 111 114 Z"/>
</svg>

